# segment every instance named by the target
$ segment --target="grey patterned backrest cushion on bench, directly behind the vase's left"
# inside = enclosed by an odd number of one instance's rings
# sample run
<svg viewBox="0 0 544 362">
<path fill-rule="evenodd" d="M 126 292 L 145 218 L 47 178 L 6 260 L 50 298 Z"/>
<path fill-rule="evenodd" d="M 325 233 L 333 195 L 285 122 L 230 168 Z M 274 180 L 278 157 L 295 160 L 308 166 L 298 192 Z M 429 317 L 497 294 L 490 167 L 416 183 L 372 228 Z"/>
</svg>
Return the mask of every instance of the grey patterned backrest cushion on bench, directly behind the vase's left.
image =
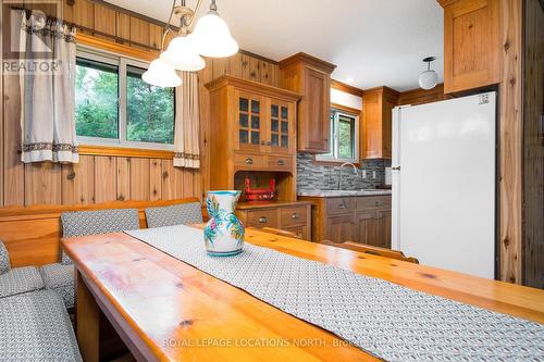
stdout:
<svg viewBox="0 0 544 362">
<path fill-rule="evenodd" d="M 199 202 L 147 208 L 146 220 L 148 227 L 196 224 L 202 222 L 202 209 Z"/>
</svg>

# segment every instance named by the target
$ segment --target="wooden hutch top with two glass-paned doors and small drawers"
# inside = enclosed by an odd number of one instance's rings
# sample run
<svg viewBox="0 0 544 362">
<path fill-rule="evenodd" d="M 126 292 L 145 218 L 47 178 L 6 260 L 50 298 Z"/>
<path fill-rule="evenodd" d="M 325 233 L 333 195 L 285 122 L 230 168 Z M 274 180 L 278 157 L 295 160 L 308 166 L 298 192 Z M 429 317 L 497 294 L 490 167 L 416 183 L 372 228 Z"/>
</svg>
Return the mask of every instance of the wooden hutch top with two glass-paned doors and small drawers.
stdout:
<svg viewBox="0 0 544 362">
<path fill-rule="evenodd" d="M 244 186 L 235 184 L 236 173 L 276 173 L 268 176 L 275 178 L 279 197 L 296 200 L 296 110 L 300 96 L 227 75 L 206 87 L 210 90 L 208 140 L 214 172 L 210 188 L 242 189 Z M 240 179 L 244 184 L 244 177 Z"/>
</svg>

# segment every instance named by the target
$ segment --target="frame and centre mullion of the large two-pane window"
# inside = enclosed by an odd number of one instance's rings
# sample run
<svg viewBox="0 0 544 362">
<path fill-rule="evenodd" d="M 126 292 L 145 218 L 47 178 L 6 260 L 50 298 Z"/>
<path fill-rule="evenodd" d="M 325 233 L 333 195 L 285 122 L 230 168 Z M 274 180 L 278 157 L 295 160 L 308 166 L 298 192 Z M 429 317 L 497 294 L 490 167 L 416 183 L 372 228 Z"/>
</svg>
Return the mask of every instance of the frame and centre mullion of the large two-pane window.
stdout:
<svg viewBox="0 0 544 362">
<path fill-rule="evenodd" d="M 91 136 L 77 136 L 77 142 L 83 146 L 99 146 L 99 147 L 119 147 L 132 148 L 143 150 L 162 150 L 174 151 L 174 143 L 159 143 L 159 142 L 143 142 L 131 141 L 126 139 L 127 127 L 127 89 L 126 89 L 126 66 L 132 65 L 147 70 L 150 62 L 138 60 L 124 54 L 115 53 L 108 50 L 101 50 L 88 46 L 77 46 L 76 58 L 87 59 L 90 61 L 101 62 L 110 65 L 118 66 L 119 85 L 118 85 L 118 121 L 119 134 L 118 138 L 91 137 Z M 175 135 L 175 90 L 174 90 L 174 135 Z"/>
</svg>

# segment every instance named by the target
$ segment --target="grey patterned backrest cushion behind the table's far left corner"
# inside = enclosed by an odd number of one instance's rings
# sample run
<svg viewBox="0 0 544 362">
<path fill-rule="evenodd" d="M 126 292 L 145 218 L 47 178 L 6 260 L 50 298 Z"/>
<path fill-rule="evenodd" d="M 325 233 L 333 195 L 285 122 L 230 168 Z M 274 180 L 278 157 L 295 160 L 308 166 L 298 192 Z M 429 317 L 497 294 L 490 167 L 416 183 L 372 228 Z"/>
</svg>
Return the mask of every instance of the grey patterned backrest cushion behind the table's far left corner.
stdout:
<svg viewBox="0 0 544 362">
<path fill-rule="evenodd" d="M 65 212 L 61 215 L 61 221 L 63 237 L 120 233 L 139 228 L 138 210 L 136 209 Z M 62 251 L 62 263 L 72 263 L 64 250 Z"/>
</svg>

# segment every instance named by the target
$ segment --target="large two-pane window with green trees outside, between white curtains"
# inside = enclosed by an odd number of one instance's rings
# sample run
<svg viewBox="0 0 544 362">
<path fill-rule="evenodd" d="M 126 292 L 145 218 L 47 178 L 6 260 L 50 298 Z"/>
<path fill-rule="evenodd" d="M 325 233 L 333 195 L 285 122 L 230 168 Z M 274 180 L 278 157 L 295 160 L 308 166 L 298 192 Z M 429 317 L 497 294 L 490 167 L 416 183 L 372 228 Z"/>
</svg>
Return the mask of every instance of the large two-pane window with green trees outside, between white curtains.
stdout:
<svg viewBox="0 0 544 362">
<path fill-rule="evenodd" d="M 174 90 L 141 80 L 147 66 L 78 49 L 75 120 L 81 143 L 173 149 Z"/>
</svg>

